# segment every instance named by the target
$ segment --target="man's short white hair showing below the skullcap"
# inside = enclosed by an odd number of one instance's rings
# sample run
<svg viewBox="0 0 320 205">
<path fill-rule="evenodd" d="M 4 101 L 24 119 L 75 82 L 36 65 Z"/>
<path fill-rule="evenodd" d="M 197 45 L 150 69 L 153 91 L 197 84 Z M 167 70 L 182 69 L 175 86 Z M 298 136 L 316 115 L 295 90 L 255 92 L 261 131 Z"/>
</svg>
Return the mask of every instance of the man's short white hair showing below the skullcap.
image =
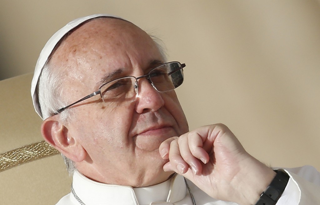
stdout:
<svg viewBox="0 0 320 205">
<path fill-rule="evenodd" d="M 155 42 L 160 54 L 164 59 L 164 62 L 166 62 L 167 57 L 163 41 L 154 35 L 149 34 L 149 36 Z M 60 44 L 57 47 L 59 47 L 66 38 L 67 36 L 62 38 L 60 40 Z M 52 52 L 51 56 L 53 54 L 54 51 Z M 62 65 L 56 65 L 54 63 L 51 63 L 49 59 L 45 63 L 41 75 L 39 77 L 37 92 L 43 119 L 46 119 L 54 115 L 58 109 L 68 106 L 66 104 L 67 100 L 65 99 L 66 93 L 63 91 L 63 79 L 66 69 L 60 69 L 61 66 Z M 68 109 L 64 110 L 59 114 L 58 121 L 62 124 L 67 123 L 69 119 L 70 111 Z M 67 171 L 71 176 L 73 172 L 76 170 L 75 162 L 62 154 L 61 156 L 64 160 L 64 163 L 66 164 Z"/>
</svg>

